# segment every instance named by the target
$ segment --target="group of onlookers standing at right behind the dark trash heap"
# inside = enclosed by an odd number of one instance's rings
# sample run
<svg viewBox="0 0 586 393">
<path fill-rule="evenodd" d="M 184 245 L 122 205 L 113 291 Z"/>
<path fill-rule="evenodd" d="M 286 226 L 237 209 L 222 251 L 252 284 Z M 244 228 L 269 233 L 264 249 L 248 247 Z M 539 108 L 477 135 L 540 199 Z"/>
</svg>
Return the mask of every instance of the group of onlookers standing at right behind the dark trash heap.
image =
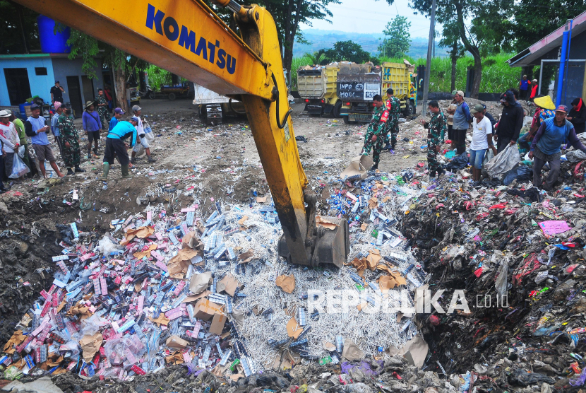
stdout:
<svg viewBox="0 0 586 393">
<path fill-rule="evenodd" d="M 472 167 L 473 184 L 477 184 L 482 176 L 482 164 L 489 150 L 496 156 L 509 146 L 518 144 L 519 148 L 515 146 L 515 153 L 524 154 L 528 151 L 528 157 L 533 160 L 534 186 L 548 191 L 553 189 L 554 183 L 558 180 L 561 147 L 573 146 L 586 153 L 586 147 L 578 139 L 578 134 L 586 128 L 586 107 L 582 98 L 573 100 L 571 110 L 565 105 L 556 107 L 549 95 L 534 98 L 537 110 L 530 130 L 520 135 L 525 110 L 519 102 L 518 90 L 510 89 L 501 95 L 503 111 L 498 122 L 486 112 L 486 105 L 477 104 L 470 108 L 461 90 L 454 91 L 453 96 L 453 102 L 448 109 L 450 119 L 447 122 L 438 102 L 429 102 L 431 120 L 429 123 L 425 122 L 424 127 L 429 129 L 427 159 L 430 177 L 436 177 L 436 173 L 441 175 L 443 172 L 437 154 L 441 151 L 446 128 L 452 147 L 458 154 L 462 154 L 466 151 L 467 129 L 472 126 L 469 162 Z M 549 174 L 542 180 L 542 169 L 546 163 L 549 163 Z"/>
</svg>

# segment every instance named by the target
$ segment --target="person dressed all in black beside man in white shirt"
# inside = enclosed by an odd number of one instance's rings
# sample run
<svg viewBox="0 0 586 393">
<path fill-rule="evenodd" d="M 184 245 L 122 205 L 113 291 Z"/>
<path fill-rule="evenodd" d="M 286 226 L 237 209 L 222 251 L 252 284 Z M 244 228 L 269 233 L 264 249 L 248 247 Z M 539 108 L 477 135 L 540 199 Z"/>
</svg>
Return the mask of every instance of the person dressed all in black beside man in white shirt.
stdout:
<svg viewBox="0 0 586 393">
<path fill-rule="evenodd" d="M 515 95 L 511 90 L 501 95 L 501 104 L 503 104 L 503 114 L 498 126 L 494 132 L 496 141 L 496 151 L 501 153 L 507 146 L 513 146 L 517 143 L 519 133 L 523 127 L 525 112 L 521 105 L 515 100 Z"/>
</svg>

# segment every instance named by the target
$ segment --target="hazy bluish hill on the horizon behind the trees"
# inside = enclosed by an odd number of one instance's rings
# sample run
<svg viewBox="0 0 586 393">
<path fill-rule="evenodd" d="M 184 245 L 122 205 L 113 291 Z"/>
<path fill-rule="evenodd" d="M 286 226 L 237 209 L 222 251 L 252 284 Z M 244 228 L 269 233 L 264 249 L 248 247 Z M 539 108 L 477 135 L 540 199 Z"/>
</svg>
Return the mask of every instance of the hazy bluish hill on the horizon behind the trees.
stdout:
<svg viewBox="0 0 586 393">
<path fill-rule="evenodd" d="M 347 33 L 338 30 L 320 29 L 306 29 L 303 31 L 303 35 L 305 39 L 311 43 L 308 45 L 295 42 L 293 47 L 294 57 L 300 57 L 306 52 L 315 52 L 318 49 L 330 49 L 333 48 L 335 42 L 348 40 L 352 40 L 361 45 L 361 47 L 367 52 L 378 55 L 379 39 L 382 40 L 384 38 L 382 33 Z M 413 37 L 411 39 L 411 47 L 409 48 L 409 52 L 407 52 L 407 56 L 414 57 L 415 59 L 418 57 L 426 57 L 427 42 L 427 38 Z M 438 40 L 436 42 L 438 42 Z M 448 53 L 446 52 L 446 49 L 440 48 L 436 43 L 436 57 L 447 56 Z"/>
</svg>

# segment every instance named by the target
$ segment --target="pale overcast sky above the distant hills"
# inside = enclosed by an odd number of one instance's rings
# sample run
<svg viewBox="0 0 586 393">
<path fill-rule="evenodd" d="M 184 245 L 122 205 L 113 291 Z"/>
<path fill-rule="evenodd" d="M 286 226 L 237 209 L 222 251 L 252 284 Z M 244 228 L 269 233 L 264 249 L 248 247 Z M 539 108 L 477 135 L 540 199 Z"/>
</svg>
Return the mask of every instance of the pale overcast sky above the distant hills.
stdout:
<svg viewBox="0 0 586 393">
<path fill-rule="evenodd" d="M 330 5 L 330 11 L 333 13 L 331 24 L 325 20 L 313 20 L 311 28 L 349 33 L 382 33 L 386 24 L 399 14 L 411 22 L 411 37 L 429 37 L 429 19 L 413 15 L 414 11 L 406 0 L 395 1 L 392 6 L 385 0 L 342 0 L 342 4 Z M 307 25 L 301 25 L 301 30 L 307 28 Z"/>
</svg>

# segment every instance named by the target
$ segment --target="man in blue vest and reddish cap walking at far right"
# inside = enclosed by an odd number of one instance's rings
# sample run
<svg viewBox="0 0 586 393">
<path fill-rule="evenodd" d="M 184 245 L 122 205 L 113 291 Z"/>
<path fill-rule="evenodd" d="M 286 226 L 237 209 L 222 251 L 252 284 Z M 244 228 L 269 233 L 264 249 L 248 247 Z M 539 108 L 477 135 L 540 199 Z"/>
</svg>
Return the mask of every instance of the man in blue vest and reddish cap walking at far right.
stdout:
<svg viewBox="0 0 586 393">
<path fill-rule="evenodd" d="M 561 164 L 560 146 L 568 142 L 576 150 L 586 153 L 586 147 L 582 145 L 572 123 L 568 122 L 566 115 L 568 108 L 560 105 L 556 109 L 556 117 L 546 119 L 537 130 L 537 134 L 531 143 L 529 158 L 533 158 L 533 185 L 542 187 L 542 168 L 549 163 L 549 174 L 545 180 L 543 189 L 551 191 L 558 180 Z"/>
</svg>

